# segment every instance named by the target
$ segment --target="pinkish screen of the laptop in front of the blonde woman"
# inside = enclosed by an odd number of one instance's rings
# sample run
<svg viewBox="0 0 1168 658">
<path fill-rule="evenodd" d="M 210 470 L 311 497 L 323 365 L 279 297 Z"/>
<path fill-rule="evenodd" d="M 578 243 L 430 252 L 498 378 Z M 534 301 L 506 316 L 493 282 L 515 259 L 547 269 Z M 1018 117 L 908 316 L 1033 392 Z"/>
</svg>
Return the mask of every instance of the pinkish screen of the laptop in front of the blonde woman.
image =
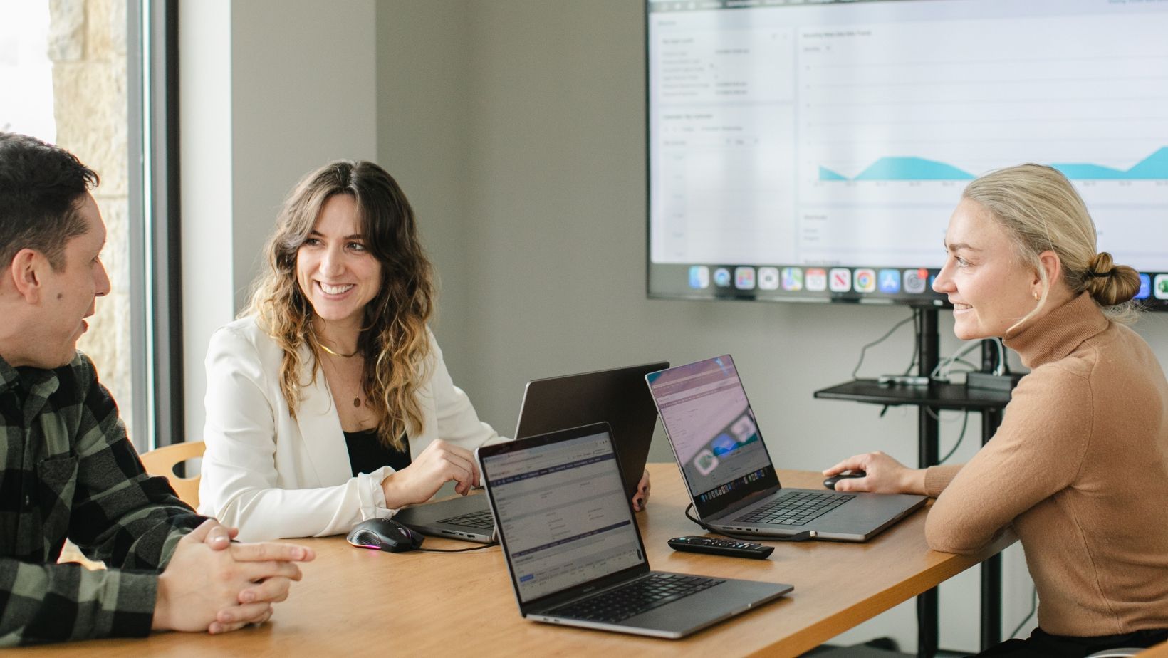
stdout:
<svg viewBox="0 0 1168 658">
<path fill-rule="evenodd" d="M 729 354 L 646 380 L 700 514 L 778 485 Z"/>
</svg>

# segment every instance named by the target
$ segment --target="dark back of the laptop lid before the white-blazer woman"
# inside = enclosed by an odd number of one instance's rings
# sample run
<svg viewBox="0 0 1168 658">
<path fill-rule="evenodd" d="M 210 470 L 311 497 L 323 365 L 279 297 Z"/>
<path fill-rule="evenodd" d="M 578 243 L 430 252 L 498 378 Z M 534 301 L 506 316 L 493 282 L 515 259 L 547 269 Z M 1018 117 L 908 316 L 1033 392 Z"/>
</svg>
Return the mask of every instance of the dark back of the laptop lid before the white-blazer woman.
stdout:
<svg viewBox="0 0 1168 658">
<path fill-rule="evenodd" d="M 632 498 L 656 428 L 656 407 L 645 375 L 668 367 L 668 361 L 656 361 L 531 380 L 523 389 L 515 437 L 609 423 L 620 456 L 625 496 Z"/>
</svg>

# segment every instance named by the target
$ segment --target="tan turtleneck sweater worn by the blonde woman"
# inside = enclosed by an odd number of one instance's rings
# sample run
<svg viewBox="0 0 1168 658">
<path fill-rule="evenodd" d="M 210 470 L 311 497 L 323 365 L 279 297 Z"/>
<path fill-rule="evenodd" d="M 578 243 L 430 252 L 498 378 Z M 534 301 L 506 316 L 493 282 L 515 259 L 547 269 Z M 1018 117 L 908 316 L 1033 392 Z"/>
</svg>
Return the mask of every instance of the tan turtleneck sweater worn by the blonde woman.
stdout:
<svg viewBox="0 0 1168 658">
<path fill-rule="evenodd" d="M 1168 382 L 1086 295 L 1007 338 L 1031 368 L 964 466 L 933 466 L 929 545 L 973 553 L 1007 526 L 1055 635 L 1168 629 Z"/>
</svg>

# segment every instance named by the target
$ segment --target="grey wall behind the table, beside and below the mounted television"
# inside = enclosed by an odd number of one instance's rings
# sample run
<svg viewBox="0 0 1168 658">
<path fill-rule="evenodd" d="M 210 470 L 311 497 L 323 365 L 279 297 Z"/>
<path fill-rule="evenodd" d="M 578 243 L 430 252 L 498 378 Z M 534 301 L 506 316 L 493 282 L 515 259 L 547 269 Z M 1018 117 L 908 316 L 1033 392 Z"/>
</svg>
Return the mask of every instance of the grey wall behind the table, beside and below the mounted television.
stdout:
<svg viewBox="0 0 1168 658">
<path fill-rule="evenodd" d="M 378 155 L 418 212 L 443 279 L 436 332 L 484 420 L 512 432 L 533 378 L 730 352 L 781 467 L 874 449 L 916 462 L 916 409 L 881 417 L 812 397 L 848 380 L 860 347 L 908 310 L 646 298 L 639 2 L 383 1 L 377 36 Z M 1163 362 L 1166 320 L 1141 328 Z M 943 313 L 943 354 L 951 327 Z M 903 369 L 911 352 L 903 330 L 861 375 Z M 944 421 L 946 451 L 960 416 Z M 954 459 L 979 437 L 974 417 Z M 670 459 L 660 435 L 651 458 Z M 1021 552 L 1009 553 L 1004 632 L 1030 609 Z M 941 646 L 978 649 L 978 587 L 971 570 L 941 588 Z M 915 619 L 910 602 L 836 642 L 890 635 L 912 651 Z"/>
</svg>

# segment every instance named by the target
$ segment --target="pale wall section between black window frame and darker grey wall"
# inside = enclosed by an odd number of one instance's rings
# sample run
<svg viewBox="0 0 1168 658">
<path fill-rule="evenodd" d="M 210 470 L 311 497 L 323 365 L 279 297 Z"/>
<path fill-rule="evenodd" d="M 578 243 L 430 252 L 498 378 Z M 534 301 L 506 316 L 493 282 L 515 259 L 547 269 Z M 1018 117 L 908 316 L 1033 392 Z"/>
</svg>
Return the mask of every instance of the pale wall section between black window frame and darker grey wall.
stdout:
<svg viewBox="0 0 1168 658">
<path fill-rule="evenodd" d="M 203 427 L 203 355 L 234 319 L 292 186 L 377 153 L 374 0 L 180 2 L 187 436 Z"/>
</svg>

